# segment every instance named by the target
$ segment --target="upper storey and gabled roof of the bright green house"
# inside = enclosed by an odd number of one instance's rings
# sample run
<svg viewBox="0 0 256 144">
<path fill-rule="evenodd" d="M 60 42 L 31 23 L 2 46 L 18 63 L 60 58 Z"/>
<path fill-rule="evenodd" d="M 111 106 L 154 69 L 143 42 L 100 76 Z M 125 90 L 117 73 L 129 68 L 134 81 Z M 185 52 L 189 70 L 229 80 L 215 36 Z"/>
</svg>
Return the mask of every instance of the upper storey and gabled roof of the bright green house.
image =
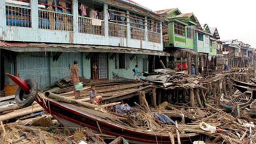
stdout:
<svg viewBox="0 0 256 144">
<path fill-rule="evenodd" d="M 156 13 L 168 18 L 163 25 L 165 48 L 193 49 L 194 28 L 198 22 L 193 13 L 181 13 L 178 8 L 158 10 Z"/>
</svg>

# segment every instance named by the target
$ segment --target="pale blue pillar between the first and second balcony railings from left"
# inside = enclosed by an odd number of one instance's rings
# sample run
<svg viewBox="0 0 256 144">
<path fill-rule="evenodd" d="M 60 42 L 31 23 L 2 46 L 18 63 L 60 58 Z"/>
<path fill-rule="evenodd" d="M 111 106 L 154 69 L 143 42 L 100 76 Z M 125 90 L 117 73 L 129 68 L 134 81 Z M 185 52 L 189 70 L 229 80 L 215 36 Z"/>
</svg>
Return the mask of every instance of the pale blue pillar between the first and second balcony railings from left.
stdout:
<svg viewBox="0 0 256 144">
<path fill-rule="evenodd" d="M 38 0 L 30 1 L 31 23 L 34 31 L 38 29 Z"/>
</svg>

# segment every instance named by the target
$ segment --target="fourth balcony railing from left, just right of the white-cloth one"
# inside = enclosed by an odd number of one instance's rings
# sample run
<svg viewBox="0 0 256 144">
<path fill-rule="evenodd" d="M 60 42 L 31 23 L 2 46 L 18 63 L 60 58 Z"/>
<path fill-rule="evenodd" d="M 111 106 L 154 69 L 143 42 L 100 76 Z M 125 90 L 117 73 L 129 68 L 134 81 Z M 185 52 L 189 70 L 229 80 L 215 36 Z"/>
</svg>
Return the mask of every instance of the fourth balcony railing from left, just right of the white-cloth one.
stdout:
<svg viewBox="0 0 256 144">
<path fill-rule="evenodd" d="M 109 22 L 109 36 L 126 38 L 127 26 L 124 24 Z"/>
</svg>

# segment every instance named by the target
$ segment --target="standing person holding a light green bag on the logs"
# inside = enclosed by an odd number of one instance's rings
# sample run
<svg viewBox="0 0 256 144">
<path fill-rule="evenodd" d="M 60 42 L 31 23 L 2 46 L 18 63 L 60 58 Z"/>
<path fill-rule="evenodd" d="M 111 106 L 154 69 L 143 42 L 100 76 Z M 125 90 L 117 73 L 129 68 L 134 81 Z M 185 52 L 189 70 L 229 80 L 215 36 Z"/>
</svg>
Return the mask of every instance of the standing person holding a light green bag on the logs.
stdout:
<svg viewBox="0 0 256 144">
<path fill-rule="evenodd" d="M 78 77 L 78 62 L 77 61 L 74 61 L 74 65 L 71 67 L 70 78 L 71 78 L 72 84 L 74 85 L 74 96 L 80 97 L 80 91 L 76 91 L 76 88 L 75 88 L 75 84 L 80 82 L 79 77 Z"/>
</svg>

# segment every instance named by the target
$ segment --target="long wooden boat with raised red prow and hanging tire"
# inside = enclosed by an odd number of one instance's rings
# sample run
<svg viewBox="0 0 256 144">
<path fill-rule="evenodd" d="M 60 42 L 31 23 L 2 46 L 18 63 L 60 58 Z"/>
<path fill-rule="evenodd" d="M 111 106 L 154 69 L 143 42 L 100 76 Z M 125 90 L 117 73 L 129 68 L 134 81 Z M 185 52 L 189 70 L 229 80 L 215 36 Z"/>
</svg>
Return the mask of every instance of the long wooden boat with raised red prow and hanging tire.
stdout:
<svg viewBox="0 0 256 144">
<path fill-rule="evenodd" d="M 26 105 L 35 100 L 65 127 L 88 127 L 100 133 L 117 137 L 122 136 L 129 143 L 170 143 L 169 131 L 157 132 L 150 129 L 131 127 L 125 122 L 125 117 L 59 102 L 47 97 L 50 93 L 45 95 L 38 92 L 36 84 L 32 79 L 24 81 L 13 75 L 7 75 L 20 86 L 16 93 L 18 100 L 23 101 L 23 103 L 27 101 Z M 175 126 L 173 128 L 175 129 Z M 179 137 L 182 143 L 192 143 L 194 140 L 200 139 L 200 134 L 182 133 L 179 134 Z M 177 135 L 174 135 L 174 138 L 177 141 Z"/>
</svg>

